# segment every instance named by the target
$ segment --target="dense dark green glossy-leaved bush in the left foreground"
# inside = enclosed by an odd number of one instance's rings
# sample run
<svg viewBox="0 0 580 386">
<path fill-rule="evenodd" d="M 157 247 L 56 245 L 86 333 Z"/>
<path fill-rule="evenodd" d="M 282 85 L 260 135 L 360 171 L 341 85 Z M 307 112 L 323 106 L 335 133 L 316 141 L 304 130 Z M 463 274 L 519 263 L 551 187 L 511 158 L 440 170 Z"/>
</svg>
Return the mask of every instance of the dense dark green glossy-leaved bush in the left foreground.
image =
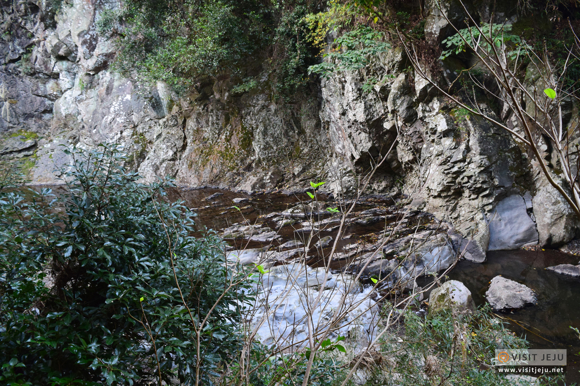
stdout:
<svg viewBox="0 0 580 386">
<path fill-rule="evenodd" d="M 0 383 L 209 384 L 241 344 L 220 240 L 116 147 L 68 153 L 64 194 L 0 184 Z"/>
</svg>

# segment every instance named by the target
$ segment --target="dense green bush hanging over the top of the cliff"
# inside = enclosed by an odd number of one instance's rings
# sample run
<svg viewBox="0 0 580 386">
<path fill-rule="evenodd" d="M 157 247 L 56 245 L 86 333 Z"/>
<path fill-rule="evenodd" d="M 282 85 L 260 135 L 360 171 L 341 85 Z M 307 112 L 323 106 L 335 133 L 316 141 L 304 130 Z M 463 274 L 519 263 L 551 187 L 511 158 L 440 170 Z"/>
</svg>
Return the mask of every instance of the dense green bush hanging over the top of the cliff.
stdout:
<svg viewBox="0 0 580 386">
<path fill-rule="evenodd" d="M 316 61 L 303 21 L 314 6 L 307 0 L 129 0 L 104 11 L 97 27 L 118 44 L 115 68 L 142 84 L 165 81 L 186 92 L 208 78 L 241 81 L 265 70 L 274 95 L 289 96 L 305 85 Z"/>
</svg>

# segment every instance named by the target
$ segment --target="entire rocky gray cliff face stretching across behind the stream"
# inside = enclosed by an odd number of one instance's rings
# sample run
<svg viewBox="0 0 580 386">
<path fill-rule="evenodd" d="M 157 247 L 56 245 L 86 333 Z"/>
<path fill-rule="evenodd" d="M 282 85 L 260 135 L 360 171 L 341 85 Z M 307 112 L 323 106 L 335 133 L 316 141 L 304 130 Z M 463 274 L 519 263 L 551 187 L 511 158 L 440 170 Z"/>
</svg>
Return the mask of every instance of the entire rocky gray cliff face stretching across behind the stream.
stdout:
<svg viewBox="0 0 580 386">
<path fill-rule="evenodd" d="M 121 143 L 147 181 L 172 176 L 253 191 L 316 179 L 336 194 L 352 192 L 357 174 L 388 153 L 371 190 L 403 190 L 411 206 L 473 236 L 475 260 L 486 250 L 561 245 L 577 233 L 574 214 L 525 148 L 437 96 L 407 70 L 400 48 L 365 71 L 322 80 L 295 104 L 273 101 L 266 78 L 238 94 L 229 79 L 213 79 L 178 98 L 162 83 L 139 88 L 111 71 L 115 47 L 96 21 L 116 6 L 2 3 L 0 157 L 34 184 L 55 183 L 55 168 L 67 163 L 60 145 Z M 427 2 L 425 28 L 436 44 L 450 28 L 434 9 Z M 446 9 L 461 20 L 454 2 Z M 474 12 L 485 19 L 487 8 Z M 370 91 L 362 86 L 369 74 L 381 79 Z M 444 79 L 454 77 L 456 68 L 444 68 Z"/>
</svg>

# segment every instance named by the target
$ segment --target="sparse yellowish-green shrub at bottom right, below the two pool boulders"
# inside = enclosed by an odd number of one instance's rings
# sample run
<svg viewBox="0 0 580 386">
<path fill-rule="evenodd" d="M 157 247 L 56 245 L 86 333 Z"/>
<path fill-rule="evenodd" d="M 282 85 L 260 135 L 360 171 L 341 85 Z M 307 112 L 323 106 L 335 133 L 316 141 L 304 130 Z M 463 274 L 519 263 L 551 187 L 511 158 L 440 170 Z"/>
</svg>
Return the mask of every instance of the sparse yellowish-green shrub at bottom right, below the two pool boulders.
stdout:
<svg viewBox="0 0 580 386">
<path fill-rule="evenodd" d="M 513 385 L 513 379 L 495 370 L 495 349 L 528 346 L 494 317 L 488 305 L 475 312 L 445 311 L 429 319 L 408 310 L 400 332 L 403 339 L 387 335 L 380 345 L 382 358 L 375 360 L 375 367 L 367 367 L 365 385 Z M 554 385 L 562 378 L 544 375 L 534 384 Z M 524 379 L 520 382 L 527 384 Z"/>
</svg>

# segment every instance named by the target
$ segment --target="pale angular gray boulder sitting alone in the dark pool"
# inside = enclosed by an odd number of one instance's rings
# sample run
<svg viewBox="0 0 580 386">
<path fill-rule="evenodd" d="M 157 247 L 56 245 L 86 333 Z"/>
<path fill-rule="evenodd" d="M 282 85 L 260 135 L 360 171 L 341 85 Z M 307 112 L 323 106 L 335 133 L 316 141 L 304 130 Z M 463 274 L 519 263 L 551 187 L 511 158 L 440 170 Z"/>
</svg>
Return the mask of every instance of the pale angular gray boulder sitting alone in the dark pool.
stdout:
<svg viewBox="0 0 580 386">
<path fill-rule="evenodd" d="M 536 294 L 533 290 L 502 276 L 495 276 L 491 279 L 490 289 L 485 292 L 485 298 L 496 311 L 521 308 L 536 302 Z"/>
</svg>

